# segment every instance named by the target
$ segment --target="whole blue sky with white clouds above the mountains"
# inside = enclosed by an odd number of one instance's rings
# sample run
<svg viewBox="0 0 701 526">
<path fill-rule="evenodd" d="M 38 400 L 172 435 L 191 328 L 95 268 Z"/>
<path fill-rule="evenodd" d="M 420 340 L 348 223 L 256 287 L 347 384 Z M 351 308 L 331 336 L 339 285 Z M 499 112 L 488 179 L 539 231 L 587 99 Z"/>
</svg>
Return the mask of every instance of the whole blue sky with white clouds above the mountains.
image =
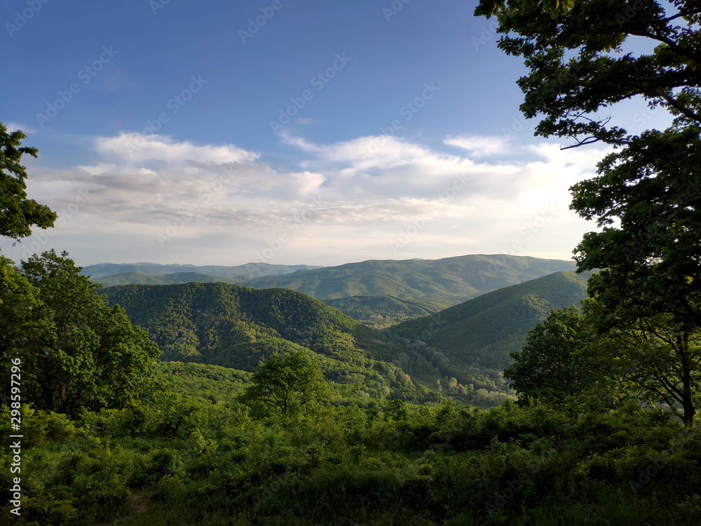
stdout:
<svg viewBox="0 0 701 526">
<path fill-rule="evenodd" d="M 593 225 L 567 189 L 604 149 L 533 137 L 526 70 L 474 7 L 5 1 L 0 121 L 39 149 L 29 195 L 60 219 L 0 248 L 81 265 L 569 259 Z"/>
</svg>

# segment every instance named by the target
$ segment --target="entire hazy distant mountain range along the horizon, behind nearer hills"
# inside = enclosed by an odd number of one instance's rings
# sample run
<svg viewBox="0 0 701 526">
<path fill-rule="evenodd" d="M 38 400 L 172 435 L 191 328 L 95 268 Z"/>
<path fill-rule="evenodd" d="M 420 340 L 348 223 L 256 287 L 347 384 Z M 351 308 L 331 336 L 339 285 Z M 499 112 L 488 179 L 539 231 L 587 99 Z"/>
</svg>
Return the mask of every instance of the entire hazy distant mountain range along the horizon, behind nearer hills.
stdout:
<svg viewBox="0 0 701 526">
<path fill-rule="evenodd" d="M 147 265 L 149 272 L 125 272 Z M 267 265 L 267 266 L 266 266 Z M 379 260 L 347 263 L 336 267 L 310 267 L 247 264 L 240 267 L 194 267 L 191 265 L 93 265 L 83 274 L 91 274 L 95 283 L 113 285 L 170 284 L 223 281 L 252 288 L 287 288 L 320 299 L 348 316 L 372 328 L 386 328 L 416 316 L 436 313 L 479 295 L 524 283 L 558 271 L 575 269 L 574 262 L 560 259 L 508 255 L 465 255 L 442 259 Z M 247 267 L 247 276 L 236 274 Z M 305 267 L 293 270 L 295 267 Z M 164 274 L 164 269 L 180 271 Z M 212 275 L 218 269 L 218 275 Z M 119 274 L 102 276 L 111 271 Z M 267 276 L 252 276 L 260 272 Z M 224 274 L 229 274 L 224 276 Z"/>
</svg>

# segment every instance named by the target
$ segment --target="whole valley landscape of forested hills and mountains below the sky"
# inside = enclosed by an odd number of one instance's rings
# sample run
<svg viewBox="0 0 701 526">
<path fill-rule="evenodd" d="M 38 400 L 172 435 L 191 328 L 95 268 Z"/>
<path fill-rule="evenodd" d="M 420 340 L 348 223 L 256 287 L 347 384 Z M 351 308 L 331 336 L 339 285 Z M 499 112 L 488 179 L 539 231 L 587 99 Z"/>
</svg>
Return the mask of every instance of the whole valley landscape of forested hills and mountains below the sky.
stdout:
<svg viewBox="0 0 701 526">
<path fill-rule="evenodd" d="M 210 282 L 212 276 L 179 273 L 152 276 L 161 280 L 158 285 L 104 290 L 110 304 L 122 306 L 132 323 L 149 331 L 163 351 L 161 360 L 252 372 L 273 353 L 304 349 L 320 363 L 335 396 L 361 403 L 367 396 L 370 405 L 386 398 L 424 403 L 444 396 L 492 407 L 515 399 L 501 371 L 510 363 L 509 353 L 525 343 L 528 330 L 550 309 L 578 305 L 586 295 L 584 277 L 572 271 L 547 274 L 570 267 L 569 262 L 507 258 L 373 261 L 247 281 L 284 288 L 258 289 L 226 283 L 232 278 L 224 276 Z M 539 274 L 547 275 L 533 278 Z M 191 281 L 162 283 L 176 276 Z M 412 285 L 400 287 L 404 279 Z M 348 290 L 352 283 L 355 292 L 378 295 L 320 302 L 295 290 L 334 295 L 328 291 Z M 444 309 L 437 299 L 449 295 L 446 301 L 454 304 L 470 294 L 476 297 Z M 408 321 L 390 325 L 395 318 Z"/>
</svg>

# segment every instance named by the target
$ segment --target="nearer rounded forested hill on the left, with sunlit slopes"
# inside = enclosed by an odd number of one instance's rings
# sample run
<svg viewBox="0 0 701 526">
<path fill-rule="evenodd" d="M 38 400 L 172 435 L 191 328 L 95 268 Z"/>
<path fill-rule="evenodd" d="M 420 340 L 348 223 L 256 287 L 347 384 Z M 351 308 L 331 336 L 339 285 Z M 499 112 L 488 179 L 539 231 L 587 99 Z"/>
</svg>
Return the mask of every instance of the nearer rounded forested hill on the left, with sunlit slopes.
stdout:
<svg viewBox="0 0 701 526">
<path fill-rule="evenodd" d="M 135 325 L 149 331 L 164 360 L 252 371 L 280 351 L 314 353 L 325 377 L 373 396 L 435 394 L 400 367 L 401 347 L 332 307 L 294 290 L 255 290 L 229 283 L 124 285 L 105 291 Z"/>
</svg>

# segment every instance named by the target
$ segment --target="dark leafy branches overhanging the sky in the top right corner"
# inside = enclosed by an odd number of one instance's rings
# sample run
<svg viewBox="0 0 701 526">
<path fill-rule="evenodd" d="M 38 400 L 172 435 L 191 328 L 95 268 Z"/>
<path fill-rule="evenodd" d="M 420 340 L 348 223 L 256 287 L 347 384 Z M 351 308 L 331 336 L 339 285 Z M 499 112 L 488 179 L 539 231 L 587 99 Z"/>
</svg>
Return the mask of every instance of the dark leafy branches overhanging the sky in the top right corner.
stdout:
<svg viewBox="0 0 701 526">
<path fill-rule="evenodd" d="M 499 47 L 531 70 L 518 83 L 524 115 L 541 115 L 536 135 L 627 144 L 601 109 L 634 97 L 701 124 L 694 0 L 480 0 L 475 15 L 496 15 Z M 645 45 L 629 53 L 634 37 Z"/>
</svg>

